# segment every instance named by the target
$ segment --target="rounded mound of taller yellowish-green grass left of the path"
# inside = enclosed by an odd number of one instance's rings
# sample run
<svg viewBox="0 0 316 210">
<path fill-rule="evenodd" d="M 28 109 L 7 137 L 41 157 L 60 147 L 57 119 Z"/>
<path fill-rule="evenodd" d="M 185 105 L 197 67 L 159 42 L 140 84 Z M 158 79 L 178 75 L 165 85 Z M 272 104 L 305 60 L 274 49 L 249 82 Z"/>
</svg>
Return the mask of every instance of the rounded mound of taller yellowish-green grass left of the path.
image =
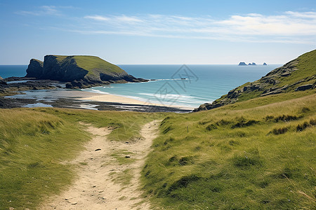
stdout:
<svg viewBox="0 0 316 210">
<path fill-rule="evenodd" d="M 90 137 L 79 127 L 46 113 L 0 110 L 0 209 L 34 209 L 44 195 L 72 181 L 74 158 Z"/>
</svg>

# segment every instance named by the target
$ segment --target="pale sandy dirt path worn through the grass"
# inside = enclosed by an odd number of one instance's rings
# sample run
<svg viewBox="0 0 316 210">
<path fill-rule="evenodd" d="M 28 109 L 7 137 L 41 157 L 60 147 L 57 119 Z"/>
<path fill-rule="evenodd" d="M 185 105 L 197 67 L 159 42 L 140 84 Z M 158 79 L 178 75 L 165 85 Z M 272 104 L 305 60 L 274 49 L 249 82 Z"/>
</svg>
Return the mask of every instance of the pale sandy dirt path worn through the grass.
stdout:
<svg viewBox="0 0 316 210">
<path fill-rule="evenodd" d="M 93 139 L 69 162 L 78 166 L 76 181 L 40 209 L 149 209 L 150 204 L 143 200 L 138 188 L 157 127 L 158 121 L 153 121 L 140 131 L 142 139 L 117 142 L 107 141 L 109 128 L 86 125 Z"/>
</svg>

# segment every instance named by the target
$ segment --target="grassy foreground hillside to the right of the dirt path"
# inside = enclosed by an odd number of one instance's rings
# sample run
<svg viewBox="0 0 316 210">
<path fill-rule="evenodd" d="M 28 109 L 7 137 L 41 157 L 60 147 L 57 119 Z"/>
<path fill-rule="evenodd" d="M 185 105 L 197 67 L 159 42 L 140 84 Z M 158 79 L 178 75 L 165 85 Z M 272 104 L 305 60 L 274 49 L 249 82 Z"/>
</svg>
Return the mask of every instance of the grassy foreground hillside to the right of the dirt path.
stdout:
<svg viewBox="0 0 316 210">
<path fill-rule="evenodd" d="M 315 209 L 315 104 L 312 94 L 166 117 L 146 195 L 165 209 Z"/>
</svg>

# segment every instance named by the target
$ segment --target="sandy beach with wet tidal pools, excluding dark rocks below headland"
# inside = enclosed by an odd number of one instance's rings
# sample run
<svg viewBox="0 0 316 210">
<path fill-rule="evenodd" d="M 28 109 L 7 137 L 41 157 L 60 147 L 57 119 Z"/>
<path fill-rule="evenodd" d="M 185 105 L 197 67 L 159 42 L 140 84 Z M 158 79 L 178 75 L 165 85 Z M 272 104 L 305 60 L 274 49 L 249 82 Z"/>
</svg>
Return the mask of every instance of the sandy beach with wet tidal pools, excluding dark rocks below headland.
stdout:
<svg viewBox="0 0 316 210">
<path fill-rule="evenodd" d="M 114 94 L 100 94 L 84 90 L 63 88 L 51 90 L 26 90 L 17 94 L 1 97 L 0 108 L 55 107 L 66 109 L 90 109 L 99 111 L 140 111 L 188 113 L 193 108 L 183 106 L 163 106 L 142 102 Z"/>
</svg>

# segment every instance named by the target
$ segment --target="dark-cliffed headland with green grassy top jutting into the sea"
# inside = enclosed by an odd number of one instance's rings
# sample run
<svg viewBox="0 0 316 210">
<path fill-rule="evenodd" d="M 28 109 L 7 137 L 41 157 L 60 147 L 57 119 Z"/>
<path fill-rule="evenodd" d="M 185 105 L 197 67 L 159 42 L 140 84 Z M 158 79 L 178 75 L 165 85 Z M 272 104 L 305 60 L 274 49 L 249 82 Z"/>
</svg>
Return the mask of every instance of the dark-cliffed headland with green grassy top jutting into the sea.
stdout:
<svg viewBox="0 0 316 210">
<path fill-rule="evenodd" d="M 84 88 L 109 83 L 145 82 L 123 69 L 95 56 L 46 55 L 44 63 L 31 59 L 27 76 L 69 82 L 67 88 Z"/>
</svg>

